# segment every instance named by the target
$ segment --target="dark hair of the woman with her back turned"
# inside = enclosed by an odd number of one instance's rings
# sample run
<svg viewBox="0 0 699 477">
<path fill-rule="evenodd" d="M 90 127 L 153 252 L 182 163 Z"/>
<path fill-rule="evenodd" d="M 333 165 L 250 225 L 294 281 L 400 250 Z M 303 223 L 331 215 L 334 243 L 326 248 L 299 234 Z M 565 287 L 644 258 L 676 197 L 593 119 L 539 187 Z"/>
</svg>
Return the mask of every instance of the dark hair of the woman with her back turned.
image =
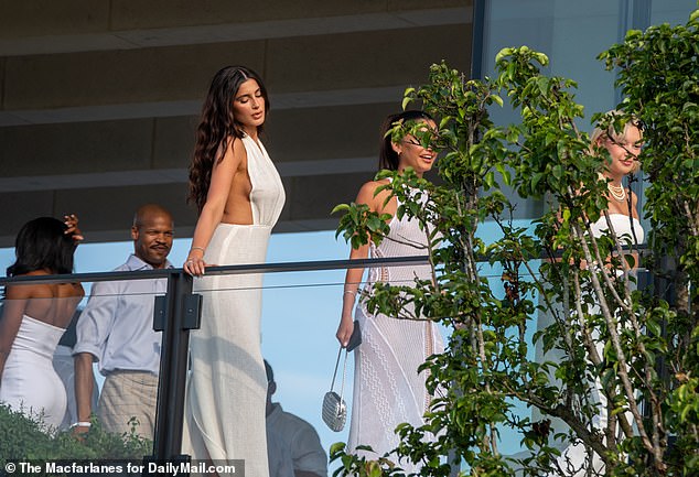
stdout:
<svg viewBox="0 0 699 477">
<path fill-rule="evenodd" d="M 22 226 L 14 240 L 17 260 L 8 267 L 8 277 L 36 270 L 72 273 L 75 241 L 66 235 L 67 226 L 53 217 L 39 217 Z"/>
</svg>

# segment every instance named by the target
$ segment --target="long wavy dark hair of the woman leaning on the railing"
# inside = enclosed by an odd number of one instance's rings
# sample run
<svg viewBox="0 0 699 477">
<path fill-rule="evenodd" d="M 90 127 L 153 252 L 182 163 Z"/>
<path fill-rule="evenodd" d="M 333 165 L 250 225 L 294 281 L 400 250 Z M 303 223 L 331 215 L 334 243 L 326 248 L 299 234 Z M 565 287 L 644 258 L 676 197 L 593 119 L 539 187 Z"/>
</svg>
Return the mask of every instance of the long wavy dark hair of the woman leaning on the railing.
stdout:
<svg viewBox="0 0 699 477">
<path fill-rule="evenodd" d="M 230 138 L 243 138 L 243 124 L 233 113 L 233 101 L 238 94 L 238 88 L 248 79 L 255 79 L 265 98 L 265 115 L 269 112 L 269 96 L 260 76 L 246 66 L 226 66 L 214 75 L 208 94 L 202 107 L 202 119 L 196 128 L 196 142 L 194 156 L 190 164 L 190 193 L 187 203 L 196 204 L 202 212 L 206 203 L 208 186 L 212 178 L 212 170 L 218 158 L 218 151 L 225 151 Z M 258 127 L 261 132 L 261 126 Z"/>
</svg>

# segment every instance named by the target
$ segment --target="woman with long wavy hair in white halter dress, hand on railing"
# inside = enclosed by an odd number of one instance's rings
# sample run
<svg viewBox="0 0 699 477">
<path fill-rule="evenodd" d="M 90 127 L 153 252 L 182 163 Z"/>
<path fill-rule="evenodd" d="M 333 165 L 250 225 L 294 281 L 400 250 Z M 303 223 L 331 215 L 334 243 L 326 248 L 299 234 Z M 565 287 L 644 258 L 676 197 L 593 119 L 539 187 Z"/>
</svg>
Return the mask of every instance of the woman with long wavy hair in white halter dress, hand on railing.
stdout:
<svg viewBox="0 0 699 477">
<path fill-rule="evenodd" d="M 222 97 L 226 105 L 216 104 Z M 230 66 L 214 77 L 190 167 L 190 197 L 200 207 L 200 218 L 184 264 L 189 273 L 202 277 L 207 263 L 265 261 L 284 204 L 281 178 L 258 139 L 268 107 L 255 72 Z M 225 123 L 227 117 L 235 123 Z M 224 124 L 218 132 L 212 127 L 216 121 Z M 207 144 L 214 147 L 206 149 Z M 261 285 L 260 274 L 195 281 L 204 300 L 202 326 L 190 340 L 183 435 L 185 454 L 216 465 L 245 460 L 245 474 L 256 477 L 268 475 Z"/>
</svg>

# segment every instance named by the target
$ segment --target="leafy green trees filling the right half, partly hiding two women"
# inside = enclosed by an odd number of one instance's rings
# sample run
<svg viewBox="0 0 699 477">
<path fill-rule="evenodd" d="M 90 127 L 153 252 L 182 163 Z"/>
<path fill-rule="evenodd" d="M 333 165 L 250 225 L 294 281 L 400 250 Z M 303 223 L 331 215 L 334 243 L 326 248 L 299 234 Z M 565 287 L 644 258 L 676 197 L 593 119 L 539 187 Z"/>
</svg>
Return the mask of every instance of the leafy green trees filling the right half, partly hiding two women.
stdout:
<svg viewBox="0 0 699 477">
<path fill-rule="evenodd" d="M 632 31 L 600 55 L 616 71 L 625 99 L 617 115 L 593 120 L 617 130 L 632 118 L 645 124 L 641 161 L 653 231 L 643 264 L 655 288 L 637 290 L 630 271 L 638 254 L 623 249 L 625 240 L 592 235 L 591 223 L 610 220 L 600 174 L 609 155 L 578 129 L 583 108 L 574 82 L 541 74 L 546 55 L 505 48 L 497 77 L 484 80 L 433 65 L 428 84 L 406 91 L 404 107 L 421 105 L 439 132 L 397 123 L 391 134 L 411 133 L 440 149 L 442 181 L 409 171 L 379 177 L 392 177 L 385 187 L 399 198 L 397 215 L 420 221 L 433 279 L 379 284 L 365 299 L 373 312 L 450 327 L 447 353 L 423 366 L 430 391 L 445 392 L 423 426 L 397 429 L 401 444 L 392 453 L 367 459 L 335 445 L 336 475 L 404 475 L 401 459 L 421 463 L 424 476 L 448 476 L 454 463 L 474 476 L 571 475 L 579 468 L 559 449 L 573 441 L 588 452 L 588 475 L 699 473 L 698 18 L 699 11 L 682 26 Z M 490 110 L 505 97 L 519 121 L 496 127 Z M 516 205 L 505 188 L 544 200 L 534 231 L 513 225 Z M 428 194 L 424 206 L 416 189 Z M 366 206 L 336 210 L 346 212 L 337 234 L 354 247 L 386 234 L 386 217 Z M 478 239 L 485 220 L 499 226 L 502 239 Z M 488 281 L 493 270 L 504 292 Z M 668 286 L 674 296 L 660 293 Z M 411 316 L 407 303 L 415 305 Z M 537 315 L 551 325 L 536 330 Z M 535 359 L 537 346 L 544 359 Z M 595 424 L 598 389 L 610 415 L 603 429 Z M 542 418 L 520 415 L 523 406 Z M 502 432 L 517 433 L 528 453 L 503 455 Z M 596 473 L 593 453 L 603 463 Z"/>
</svg>

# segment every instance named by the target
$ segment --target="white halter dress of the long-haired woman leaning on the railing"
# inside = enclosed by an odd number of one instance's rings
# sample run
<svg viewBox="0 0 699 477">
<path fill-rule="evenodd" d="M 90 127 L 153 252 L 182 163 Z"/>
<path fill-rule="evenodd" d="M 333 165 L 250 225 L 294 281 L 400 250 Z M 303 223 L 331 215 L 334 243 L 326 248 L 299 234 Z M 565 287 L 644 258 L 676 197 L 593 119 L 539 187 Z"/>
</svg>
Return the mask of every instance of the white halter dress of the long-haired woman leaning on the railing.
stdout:
<svg viewBox="0 0 699 477">
<path fill-rule="evenodd" d="M 284 191 L 267 151 L 243 138 L 252 184 L 252 225 L 219 224 L 204 259 L 217 265 L 262 263 Z M 245 460 L 245 475 L 267 477 L 267 376 L 260 350 L 261 274 L 196 280 L 202 327 L 190 339 L 183 453 L 216 465 Z"/>
</svg>

